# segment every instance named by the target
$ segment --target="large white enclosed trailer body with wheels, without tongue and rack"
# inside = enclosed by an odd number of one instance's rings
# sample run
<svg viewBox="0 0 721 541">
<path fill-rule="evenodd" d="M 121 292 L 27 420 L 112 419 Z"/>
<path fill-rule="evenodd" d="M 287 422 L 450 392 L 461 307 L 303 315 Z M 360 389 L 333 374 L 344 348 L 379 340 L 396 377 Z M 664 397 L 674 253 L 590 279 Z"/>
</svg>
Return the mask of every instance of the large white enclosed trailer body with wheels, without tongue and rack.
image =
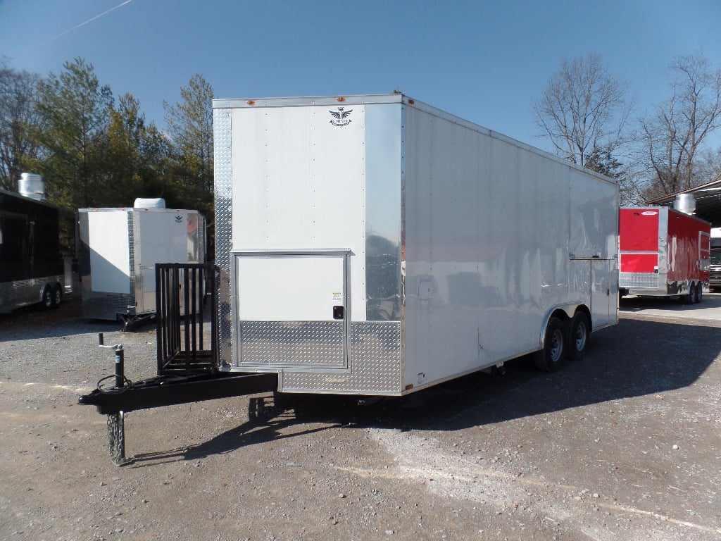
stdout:
<svg viewBox="0 0 721 541">
<path fill-rule="evenodd" d="M 617 322 L 618 187 L 402 94 L 214 100 L 221 370 L 404 395 Z"/>
</svg>

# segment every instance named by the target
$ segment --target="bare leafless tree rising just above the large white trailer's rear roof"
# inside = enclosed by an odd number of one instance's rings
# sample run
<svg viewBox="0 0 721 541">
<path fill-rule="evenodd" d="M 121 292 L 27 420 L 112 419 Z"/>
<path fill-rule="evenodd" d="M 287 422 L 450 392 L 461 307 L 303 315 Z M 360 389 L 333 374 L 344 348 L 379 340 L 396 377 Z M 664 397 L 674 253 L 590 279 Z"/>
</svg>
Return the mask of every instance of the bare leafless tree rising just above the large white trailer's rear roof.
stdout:
<svg viewBox="0 0 721 541">
<path fill-rule="evenodd" d="M 600 56 L 564 58 L 533 103 L 536 125 L 557 154 L 587 167 L 593 154 L 611 156 L 624 142 L 632 107 L 626 95 L 627 83 L 613 76 Z"/>
</svg>

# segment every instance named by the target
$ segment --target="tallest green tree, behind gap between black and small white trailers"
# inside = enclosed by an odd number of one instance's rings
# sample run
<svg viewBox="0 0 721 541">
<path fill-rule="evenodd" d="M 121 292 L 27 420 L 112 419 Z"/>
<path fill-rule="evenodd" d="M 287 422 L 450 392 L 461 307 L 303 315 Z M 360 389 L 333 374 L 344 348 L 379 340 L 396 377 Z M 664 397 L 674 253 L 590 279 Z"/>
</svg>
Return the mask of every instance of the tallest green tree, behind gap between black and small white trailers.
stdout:
<svg viewBox="0 0 721 541">
<path fill-rule="evenodd" d="M 45 157 L 37 170 L 45 176 L 51 201 L 68 208 L 105 206 L 112 199 L 105 170 L 112 92 L 83 58 L 63 68 L 39 85 L 37 108 L 45 128 L 36 137 Z"/>
</svg>

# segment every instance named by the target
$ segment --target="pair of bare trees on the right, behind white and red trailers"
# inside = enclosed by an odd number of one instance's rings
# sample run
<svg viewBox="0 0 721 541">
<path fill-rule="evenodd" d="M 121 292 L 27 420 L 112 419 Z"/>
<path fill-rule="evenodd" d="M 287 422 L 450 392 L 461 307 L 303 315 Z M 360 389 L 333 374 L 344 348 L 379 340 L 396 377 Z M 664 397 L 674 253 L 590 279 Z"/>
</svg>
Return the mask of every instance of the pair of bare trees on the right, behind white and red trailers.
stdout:
<svg viewBox="0 0 721 541">
<path fill-rule="evenodd" d="M 601 56 L 564 59 L 532 103 L 536 126 L 559 156 L 615 178 L 622 204 L 718 180 L 721 146 L 709 136 L 721 127 L 721 70 L 697 54 L 668 76 L 668 98 L 637 114 Z"/>
</svg>

